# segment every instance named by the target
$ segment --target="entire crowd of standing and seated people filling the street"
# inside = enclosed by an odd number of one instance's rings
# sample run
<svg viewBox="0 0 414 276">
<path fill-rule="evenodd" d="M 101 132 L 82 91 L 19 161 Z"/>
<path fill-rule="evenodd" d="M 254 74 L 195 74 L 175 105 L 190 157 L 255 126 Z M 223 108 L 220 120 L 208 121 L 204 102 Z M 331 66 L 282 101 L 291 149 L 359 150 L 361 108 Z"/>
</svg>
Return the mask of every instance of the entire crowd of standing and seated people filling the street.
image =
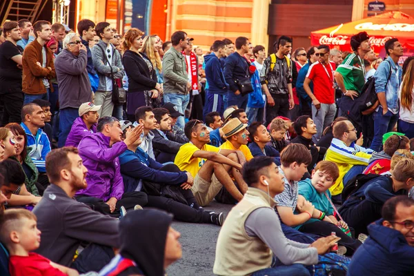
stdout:
<svg viewBox="0 0 414 276">
<path fill-rule="evenodd" d="M 326 256 L 414 270 L 414 58 L 400 66 L 397 38 L 382 59 L 366 32 L 353 52 L 281 36 L 270 55 L 88 19 L 1 37 L 1 275 L 164 275 L 172 219 L 221 226 L 217 275 L 311 275 Z"/>
</svg>

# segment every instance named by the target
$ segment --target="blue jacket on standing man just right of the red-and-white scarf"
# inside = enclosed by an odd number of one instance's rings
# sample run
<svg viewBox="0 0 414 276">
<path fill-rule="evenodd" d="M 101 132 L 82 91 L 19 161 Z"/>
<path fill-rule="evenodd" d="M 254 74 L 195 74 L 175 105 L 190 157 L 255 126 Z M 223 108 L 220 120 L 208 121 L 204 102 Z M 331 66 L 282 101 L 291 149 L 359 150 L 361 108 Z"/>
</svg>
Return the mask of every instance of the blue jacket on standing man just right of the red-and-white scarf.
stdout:
<svg viewBox="0 0 414 276">
<path fill-rule="evenodd" d="M 212 52 L 210 55 L 204 56 L 206 62 L 206 79 L 208 82 L 208 92 L 213 94 L 224 95 L 229 86 L 224 79 L 224 72 L 221 68 L 219 58 Z"/>
</svg>

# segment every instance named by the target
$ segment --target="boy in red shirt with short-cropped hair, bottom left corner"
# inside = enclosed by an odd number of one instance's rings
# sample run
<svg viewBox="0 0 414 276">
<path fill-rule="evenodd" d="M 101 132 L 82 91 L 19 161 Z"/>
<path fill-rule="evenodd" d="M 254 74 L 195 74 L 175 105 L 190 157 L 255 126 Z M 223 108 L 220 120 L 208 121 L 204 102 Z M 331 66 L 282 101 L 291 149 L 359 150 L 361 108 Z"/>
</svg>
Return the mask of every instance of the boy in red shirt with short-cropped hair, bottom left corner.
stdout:
<svg viewBox="0 0 414 276">
<path fill-rule="evenodd" d="M 40 234 L 36 215 L 26 209 L 9 209 L 0 217 L 0 241 L 10 253 L 10 275 L 79 276 L 77 270 L 30 252 L 39 248 Z"/>
</svg>

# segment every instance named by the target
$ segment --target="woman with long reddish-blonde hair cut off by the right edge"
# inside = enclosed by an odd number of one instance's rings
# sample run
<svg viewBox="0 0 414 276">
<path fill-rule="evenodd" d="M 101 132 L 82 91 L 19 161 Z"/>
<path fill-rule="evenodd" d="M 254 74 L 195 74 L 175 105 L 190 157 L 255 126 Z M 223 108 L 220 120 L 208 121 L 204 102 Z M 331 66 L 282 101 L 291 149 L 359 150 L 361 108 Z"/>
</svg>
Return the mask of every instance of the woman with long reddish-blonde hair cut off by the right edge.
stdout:
<svg viewBox="0 0 414 276">
<path fill-rule="evenodd" d="M 414 138 L 414 57 L 408 57 L 402 66 L 402 83 L 398 91 L 400 119 L 398 131 Z"/>
</svg>

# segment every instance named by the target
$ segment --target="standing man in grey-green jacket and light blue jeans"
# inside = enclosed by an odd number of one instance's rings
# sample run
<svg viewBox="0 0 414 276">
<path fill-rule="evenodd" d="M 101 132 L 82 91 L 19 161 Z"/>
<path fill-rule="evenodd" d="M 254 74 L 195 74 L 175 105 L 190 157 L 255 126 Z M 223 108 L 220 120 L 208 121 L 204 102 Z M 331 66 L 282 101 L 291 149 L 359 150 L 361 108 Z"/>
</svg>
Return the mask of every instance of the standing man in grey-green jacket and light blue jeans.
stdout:
<svg viewBox="0 0 414 276">
<path fill-rule="evenodd" d="M 186 57 L 182 54 L 188 46 L 186 32 L 177 30 L 171 35 L 172 47 L 162 59 L 164 70 L 164 102 L 173 103 L 184 114 L 190 101 L 191 82 L 188 81 Z M 184 129 L 184 117 L 178 117 L 177 126 Z"/>
</svg>

